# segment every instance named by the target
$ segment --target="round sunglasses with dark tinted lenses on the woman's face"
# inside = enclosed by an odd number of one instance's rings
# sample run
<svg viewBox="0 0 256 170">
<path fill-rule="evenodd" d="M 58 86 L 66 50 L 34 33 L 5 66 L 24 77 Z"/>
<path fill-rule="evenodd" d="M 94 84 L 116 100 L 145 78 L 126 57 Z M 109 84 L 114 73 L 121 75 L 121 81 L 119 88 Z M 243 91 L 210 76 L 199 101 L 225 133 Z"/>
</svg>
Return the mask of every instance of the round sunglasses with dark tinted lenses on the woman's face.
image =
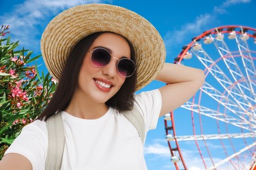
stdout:
<svg viewBox="0 0 256 170">
<path fill-rule="evenodd" d="M 91 61 L 95 67 L 102 68 L 106 67 L 108 63 L 110 63 L 111 58 L 115 58 L 111 56 L 110 52 L 105 48 L 95 48 L 94 50 L 89 51 L 91 52 Z M 128 58 L 115 58 L 118 60 L 116 68 L 119 75 L 123 77 L 132 76 L 135 73 L 135 62 Z"/>
</svg>

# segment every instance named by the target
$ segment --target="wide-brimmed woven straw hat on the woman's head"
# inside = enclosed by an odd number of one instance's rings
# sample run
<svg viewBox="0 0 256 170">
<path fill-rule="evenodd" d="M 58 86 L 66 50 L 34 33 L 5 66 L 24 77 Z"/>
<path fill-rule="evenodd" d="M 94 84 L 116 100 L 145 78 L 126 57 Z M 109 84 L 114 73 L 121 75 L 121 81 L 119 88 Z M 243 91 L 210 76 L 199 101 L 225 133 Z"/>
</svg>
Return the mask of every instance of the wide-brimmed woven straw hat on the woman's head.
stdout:
<svg viewBox="0 0 256 170">
<path fill-rule="evenodd" d="M 131 10 L 114 5 L 87 4 L 64 10 L 43 32 L 42 56 L 56 80 L 76 42 L 99 31 L 112 31 L 132 42 L 137 61 L 136 90 L 156 78 L 165 62 L 165 45 L 156 28 Z"/>
</svg>

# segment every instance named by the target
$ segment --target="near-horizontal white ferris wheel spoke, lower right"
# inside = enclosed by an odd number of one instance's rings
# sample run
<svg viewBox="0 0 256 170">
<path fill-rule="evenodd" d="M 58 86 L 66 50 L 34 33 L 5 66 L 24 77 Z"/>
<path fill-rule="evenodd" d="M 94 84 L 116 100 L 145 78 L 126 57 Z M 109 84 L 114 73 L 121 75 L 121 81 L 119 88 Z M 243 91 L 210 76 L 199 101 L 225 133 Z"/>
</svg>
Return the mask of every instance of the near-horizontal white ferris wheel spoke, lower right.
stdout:
<svg viewBox="0 0 256 170">
<path fill-rule="evenodd" d="M 251 138 L 255 137 L 256 133 L 226 133 L 213 135 L 184 135 L 175 136 L 177 141 L 194 141 L 194 140 L 210 140 L 210 139 L 234 139 L 234 138 Z"/>
</svg>

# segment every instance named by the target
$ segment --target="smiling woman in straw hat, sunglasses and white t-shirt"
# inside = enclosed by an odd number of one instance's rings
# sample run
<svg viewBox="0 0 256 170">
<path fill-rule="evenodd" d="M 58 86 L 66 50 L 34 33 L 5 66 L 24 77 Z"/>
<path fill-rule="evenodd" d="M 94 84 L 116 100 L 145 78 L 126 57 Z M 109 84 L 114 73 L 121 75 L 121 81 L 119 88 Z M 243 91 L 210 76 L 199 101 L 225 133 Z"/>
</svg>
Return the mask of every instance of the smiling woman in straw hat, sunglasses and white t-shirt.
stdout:
<svg viewBox="0 0 256 170">
<path fill-rule="evenodd" d="M 143 143 L 123 116 L 136 108 L 145 131 L 202 86 L 203 71 L 164 63 L 165 46 L 144 18 L 112 5 L 79 5 L 45 29 L 41 51 L 58 80 L 38 120 L 24 127 L 0 169 L 45 169 L 46 120 L 61 114 L 66 143 L 61 169 L 147 169 Z M 166 86 L 135 95 L 152 80 Z M 189 88 L 188 88 L 189 87 Z"/>
</svg>

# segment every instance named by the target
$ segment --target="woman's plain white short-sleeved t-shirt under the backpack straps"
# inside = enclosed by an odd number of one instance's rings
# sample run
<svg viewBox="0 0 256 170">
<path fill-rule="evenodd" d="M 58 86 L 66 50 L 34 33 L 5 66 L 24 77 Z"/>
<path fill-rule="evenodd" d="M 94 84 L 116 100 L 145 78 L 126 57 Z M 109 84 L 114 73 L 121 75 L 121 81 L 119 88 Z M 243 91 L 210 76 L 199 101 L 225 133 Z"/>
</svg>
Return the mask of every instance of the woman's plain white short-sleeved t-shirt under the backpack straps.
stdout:
<svg viewBox="0 0 256 170">
<path fill-rule="evenodd" d="M 155 129 L 161 109 L 160 91 L 135 95 L 135 107 L 143 114 L 146 132 Z M 110 108 L 95 120 L 77 118 L 64 111 L 61 114 L 66 135 L 63 170 L 147 169 L 137 130 L 116 109 Z M 44 170 L 47 147 L 46 123 L 36 120 L 22 129 L 5 154 L 22 154 L 34 170 Z"/>
</svg>

